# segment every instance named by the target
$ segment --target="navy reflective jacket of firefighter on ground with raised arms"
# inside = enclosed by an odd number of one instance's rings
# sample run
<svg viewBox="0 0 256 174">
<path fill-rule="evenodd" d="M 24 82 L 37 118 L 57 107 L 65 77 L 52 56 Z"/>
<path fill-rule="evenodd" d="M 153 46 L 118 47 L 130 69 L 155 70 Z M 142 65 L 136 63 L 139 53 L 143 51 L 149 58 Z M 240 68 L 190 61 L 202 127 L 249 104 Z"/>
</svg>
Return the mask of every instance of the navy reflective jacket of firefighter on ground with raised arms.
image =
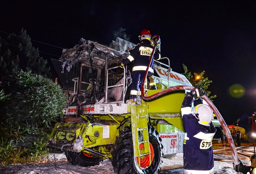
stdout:
<svg viewBox="0 0 256 174">
<path fill-rule="evenodd" d="M 216 128 L 203 126 L 192 114 L 193 97 L 185 95 L 181 106 L 182 120 L 186 130 L 183 141 L 183 165 L 186 174 L 210 174 L 213 172 L 212 139 Z M 202 104 L 202 100 L 194 100 L 194 106 Z"/>
</svg>

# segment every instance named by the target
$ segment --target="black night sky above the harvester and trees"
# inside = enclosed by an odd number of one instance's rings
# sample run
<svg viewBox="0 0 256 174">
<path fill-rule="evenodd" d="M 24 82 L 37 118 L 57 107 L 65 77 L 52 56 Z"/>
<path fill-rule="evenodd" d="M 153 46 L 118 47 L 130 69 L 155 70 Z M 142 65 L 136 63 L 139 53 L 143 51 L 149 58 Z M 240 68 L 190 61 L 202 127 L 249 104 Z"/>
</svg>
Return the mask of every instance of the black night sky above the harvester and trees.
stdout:
<svg viewBox="0 0 256 174">
<path fill-rule="evenodd" d="M 149 29 L 161 37 L 162 57 L 170 58 L 173 71 L 182 73 L 182 64 L 192 72 L 206 71 L 205 77 L 213 81 L 209 90 L 217 95 L 214 104 L 227 123 L 256 111 L 255 4 L 73 2 L 1 1 L 0 31 L 12 33 L 24 28 L 33 40 L 71 48 L 81 37 L 108 45 L 121 28 L 131 42 L 138 43 L 139 32 Z M 7 34 L 0 32 L 0 36 Z M 32 43 L 42 52 L 62 53 L 60 48 Z M 59 58 L 54 55 L 41 54 L 47 59 Z M 234 83 L 245 88 L 240 99 L 228 95 Z"/>
</svg>

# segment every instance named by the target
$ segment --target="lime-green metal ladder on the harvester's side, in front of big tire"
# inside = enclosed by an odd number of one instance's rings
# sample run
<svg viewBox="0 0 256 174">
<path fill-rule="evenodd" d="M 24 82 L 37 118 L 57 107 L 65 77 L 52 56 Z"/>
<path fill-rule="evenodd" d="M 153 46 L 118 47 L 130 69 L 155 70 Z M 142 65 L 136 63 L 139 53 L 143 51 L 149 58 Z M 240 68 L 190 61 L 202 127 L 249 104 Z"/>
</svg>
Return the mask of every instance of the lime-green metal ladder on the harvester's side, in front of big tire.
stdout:
<svg viewBox="0 0 256 174">
<path fill-rule="evenodd" d="M 136 105 L 133 105 L 135 103 Z M 142 156 L 149 155 L 150 166 L 152 161 L 148 137 L 148 105 L 146 103 L 138 105 L 137 102 L 133 104 L 131 105 L 131 123 L 134 157 L 136 160 L 136 157 L 140 159 Z M 138 164 L 143 169 L 140 165 L 140 160 L 138 160 Z"/>
</svg>

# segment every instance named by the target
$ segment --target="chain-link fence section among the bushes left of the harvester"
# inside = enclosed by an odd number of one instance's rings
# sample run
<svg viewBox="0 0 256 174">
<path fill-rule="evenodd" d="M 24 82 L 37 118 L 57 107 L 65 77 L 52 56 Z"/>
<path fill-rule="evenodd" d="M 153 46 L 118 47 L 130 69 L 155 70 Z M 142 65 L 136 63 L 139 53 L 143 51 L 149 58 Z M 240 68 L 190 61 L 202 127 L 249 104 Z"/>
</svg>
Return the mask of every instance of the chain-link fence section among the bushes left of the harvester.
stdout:
<svg viewBox="0 0 256 174">
<path fill-rule="evenodd" d="M 41 139 L 42 139 L 42 141 L 41 141 Z M 48 140 L 47 136 L 29 135 L 29 136 L 22 136 L 19 140 L 12 141 L 12 145 L 14 147 L 31 147 L 32 142 L 41 141 L 43 143 L 46 143 L 47 140 Z"/>
</svg>

